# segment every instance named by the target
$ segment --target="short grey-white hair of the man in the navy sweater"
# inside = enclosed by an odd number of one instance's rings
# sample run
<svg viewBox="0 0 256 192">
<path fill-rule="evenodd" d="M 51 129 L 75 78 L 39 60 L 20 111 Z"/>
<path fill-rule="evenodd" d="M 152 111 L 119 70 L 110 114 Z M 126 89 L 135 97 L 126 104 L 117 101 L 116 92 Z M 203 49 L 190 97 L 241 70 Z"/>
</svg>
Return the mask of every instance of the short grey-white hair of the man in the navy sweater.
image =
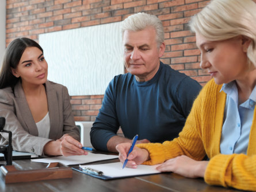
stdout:
<svg viewBox="0 0 256 192">
<path fill-rule="evenodd" d="M 163 25 L 161 20 L 155 15 L 147 13 L 136 13 L 130 15 L 121 23 L 121 33 L 123 36 L 125 30 L 139 32 L 140 30 L 146 29 L 148 27 L 152 27 L 155 29 L 156 42 L 158 46 L 160 46 L 165 40 L 165 32 L 163 31 Z"/>
</svg>

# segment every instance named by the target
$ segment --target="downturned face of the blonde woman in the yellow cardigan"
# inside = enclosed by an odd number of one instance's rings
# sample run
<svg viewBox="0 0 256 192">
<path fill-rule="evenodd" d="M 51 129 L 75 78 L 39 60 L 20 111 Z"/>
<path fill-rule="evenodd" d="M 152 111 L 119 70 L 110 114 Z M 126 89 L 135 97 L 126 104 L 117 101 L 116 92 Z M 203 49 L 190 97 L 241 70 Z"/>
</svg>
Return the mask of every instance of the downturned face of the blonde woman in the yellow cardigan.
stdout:
<svg viewBox="0 0 256 192">
<path fill-rule="evenodd" d="M 243 80 L 249 70 L 247 48 L 250 40 L 238 36 L 223 41 L 207 41 L 196 33 L 196 44 L 201 52 L 202 69 L 208 69 L 216 84 Z"/>
</svg>

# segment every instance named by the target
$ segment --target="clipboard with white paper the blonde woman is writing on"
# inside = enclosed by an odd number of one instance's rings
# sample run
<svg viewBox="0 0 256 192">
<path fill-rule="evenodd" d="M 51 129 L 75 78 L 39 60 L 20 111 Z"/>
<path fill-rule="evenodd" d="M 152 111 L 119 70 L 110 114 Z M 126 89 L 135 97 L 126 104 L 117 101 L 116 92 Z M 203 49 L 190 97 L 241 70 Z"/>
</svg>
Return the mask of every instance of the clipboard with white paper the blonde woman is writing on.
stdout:
<svg viewBox="0 0 256 192">
<path fill-rule="evenodd" d="M 156 164 L 154 166 L 140 164 L 139 166 L 137 166 L 136 169 L 128 167 L 125 167 L 123 169 L 123 164 L 121 162 L 116 162 L 106 164 L 79 165 L 79 167 L 73 167 L 72 169 L 100 179 L 116 179 L 161 173 L 160 171 L 155 169 L 157 166 L 159 166 L 159 164 Z M 100 172 L 101 174 L 97 174 Z"/>
</svg>

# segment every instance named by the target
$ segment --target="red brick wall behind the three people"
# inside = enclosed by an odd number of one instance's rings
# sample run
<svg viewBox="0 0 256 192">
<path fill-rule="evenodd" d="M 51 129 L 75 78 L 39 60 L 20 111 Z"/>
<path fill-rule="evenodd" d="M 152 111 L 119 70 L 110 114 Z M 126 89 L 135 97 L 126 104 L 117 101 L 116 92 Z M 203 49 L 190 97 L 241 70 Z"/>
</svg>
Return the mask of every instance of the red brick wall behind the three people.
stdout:
<svg viewBox="0 0 256 192">
<path fill-rule="evenodd" d="M 2 1 L 2 0 L 1 0 Z M 162 61 L 202 85 L 209 79 L 200 69 L 195 38 L 188 21 L 204 0 L 6 0 L 6 45 L 17 37 L 38 40 L 39 34 L 122 21 L 144 11 L 157 15 L 165 28 Z M 94 121 L 103 95 L 71 96 L 75 120 Z"/>
</svg>

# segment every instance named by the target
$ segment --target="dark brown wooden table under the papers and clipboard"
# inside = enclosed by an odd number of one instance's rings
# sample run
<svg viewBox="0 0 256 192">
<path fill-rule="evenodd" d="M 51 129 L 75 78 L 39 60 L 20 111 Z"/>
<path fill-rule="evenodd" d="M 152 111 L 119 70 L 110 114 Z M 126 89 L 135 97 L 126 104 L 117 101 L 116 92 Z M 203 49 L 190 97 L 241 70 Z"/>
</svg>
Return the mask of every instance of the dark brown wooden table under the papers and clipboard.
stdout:
<svg viewBox="0 0 256 192">
<path fill-rule="evenodd" d="M 113 163 L 117 162 L 117 159 L 105 160 L 98 163 Z M 0 161 L 0 163 L 5 163 Z M 32 162 L 30 159 L 13 160 L 13 165 L 17 169 L 44 169 L 47 164 Z M 0 173 L 0 191 L 12 192 L 48 192 L 48 191 L 83 191 L 83 192 L 136 192 L 136 191 L 236 191 L 235 189 L 227 189 L 219 186 L 209 186 L 203 179 L 188 179 L 178 174 L 162 173 L 156 175 L 146 175 L 142 177 L 112 179 L 104 181 L 102 179 L 94 178 L 86 174 L 79 173 L 72 170 L 72 178 L 69 179 L 54 179 L 45 181 L 25 182 L 25 183 L 12 183 L 5 184 L 5 177 Z"/>
</svg>

